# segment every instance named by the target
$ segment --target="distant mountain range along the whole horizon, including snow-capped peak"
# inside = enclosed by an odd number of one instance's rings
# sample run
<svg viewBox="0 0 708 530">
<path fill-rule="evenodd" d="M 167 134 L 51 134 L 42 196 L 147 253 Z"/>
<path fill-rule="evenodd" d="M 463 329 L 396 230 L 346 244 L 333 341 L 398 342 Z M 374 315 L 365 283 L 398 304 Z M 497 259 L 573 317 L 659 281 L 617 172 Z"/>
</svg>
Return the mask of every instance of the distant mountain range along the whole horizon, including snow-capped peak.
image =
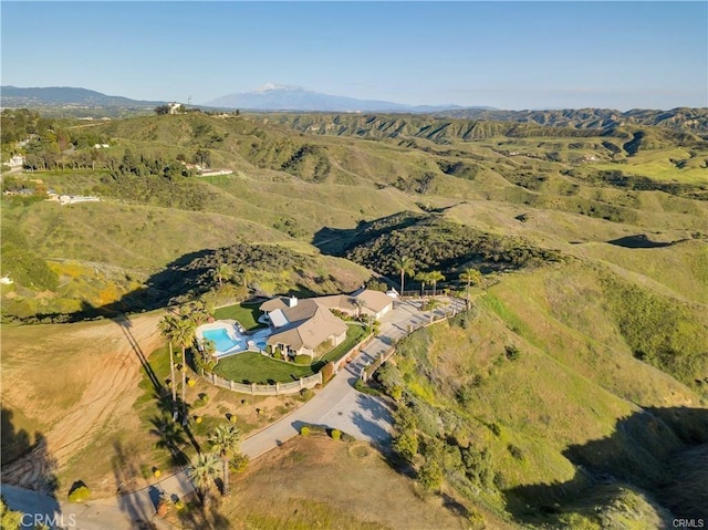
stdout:
<svg viewBox="0 0 708 530">
<path fill-rule="evenodd" d="M 165 101 L 131 100 L 86 89 L 50 86 L 22 89 L 0 86 L 0 106 L 42 108 L 55 115 L 125 116 L 145 113 Z M 677 107 L 668 111 L 634 108 L 565 108 L 504 111 L 485 106 L 406 105 L 403 103 L 357 100 L 323 94 L 300 86 L 268 83 L 251 92 L 225 95 L 196 106 L 205 111 L 243 110 L 260 112 L 389 113 L 431 114 L 437 118 L 478 122 L 511 122 L 529 125 L 571 128 L 610 129 L 617 126 L 658 125 L 708 137 L 708 108 Z"/>
</svg>

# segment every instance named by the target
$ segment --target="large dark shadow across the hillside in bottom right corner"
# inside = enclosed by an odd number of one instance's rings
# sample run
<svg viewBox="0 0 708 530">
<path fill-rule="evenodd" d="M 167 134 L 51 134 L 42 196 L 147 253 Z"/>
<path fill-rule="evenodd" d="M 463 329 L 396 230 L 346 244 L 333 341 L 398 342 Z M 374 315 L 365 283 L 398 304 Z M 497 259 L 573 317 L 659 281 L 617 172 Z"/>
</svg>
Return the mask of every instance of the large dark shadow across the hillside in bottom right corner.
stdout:
<svg viewBox="0 0 708 530">
<path fill-rule="evenodd" d="M 646 491 L 673 517 L 708 518 L 708 409 L 646 408 L 620 420 L 612 436 L 570 446 L 563 456 L 576 467 L 573 479 L 503 492 L 516 518 L 539 522 L 540 515 L 582 506 L 607 485 Z"/>
</svg>

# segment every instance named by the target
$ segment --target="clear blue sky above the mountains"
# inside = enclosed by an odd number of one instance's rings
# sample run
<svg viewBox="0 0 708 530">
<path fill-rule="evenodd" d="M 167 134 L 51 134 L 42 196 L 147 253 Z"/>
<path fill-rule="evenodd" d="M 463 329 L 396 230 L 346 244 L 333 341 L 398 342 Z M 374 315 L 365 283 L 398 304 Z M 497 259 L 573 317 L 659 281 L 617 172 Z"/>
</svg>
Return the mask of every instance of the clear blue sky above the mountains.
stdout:
<svg viewBox="0 0 708 530">
<path fill-rule="evenodd" d="M 708 106 L 708 2 L 1 3 L 2 84 L 205 103 Z"/>
</svg>

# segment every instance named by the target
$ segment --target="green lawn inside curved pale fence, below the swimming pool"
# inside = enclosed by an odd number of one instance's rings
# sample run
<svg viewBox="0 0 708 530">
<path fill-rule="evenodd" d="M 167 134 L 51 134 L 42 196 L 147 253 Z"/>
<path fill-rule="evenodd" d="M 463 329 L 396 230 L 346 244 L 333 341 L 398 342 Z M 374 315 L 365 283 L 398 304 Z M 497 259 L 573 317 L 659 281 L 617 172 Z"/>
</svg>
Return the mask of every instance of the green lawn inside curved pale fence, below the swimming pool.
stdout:
<svg viewBox="0 0 708 530">
<path fill-rule="evenodd" d="M 275 361 L 256 352 L 243 352 L 222 358 L 214 372 L 237 383 L 274 384 L 298 381 L 314 374 L 313 366 Z"/>
</svg>

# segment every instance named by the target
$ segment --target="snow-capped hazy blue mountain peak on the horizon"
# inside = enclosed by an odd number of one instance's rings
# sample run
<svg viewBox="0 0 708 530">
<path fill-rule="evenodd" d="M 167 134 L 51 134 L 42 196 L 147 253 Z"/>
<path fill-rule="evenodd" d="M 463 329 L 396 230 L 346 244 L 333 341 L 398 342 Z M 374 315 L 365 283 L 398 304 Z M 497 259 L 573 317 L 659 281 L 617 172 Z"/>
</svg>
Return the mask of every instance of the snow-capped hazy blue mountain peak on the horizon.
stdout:
<svg viewBox="0 0 708 530">
<path fill-rule="evenodd" d="M 268 83 L 262 87 L 239 94 L 229 94 L 206 103 L 222 108 L 252 111 L 302 111 L 302 112 L 408 112 L 430 113 L 460 110 L 458 105 L 405 105 L 389 101 L 357 100 L 323 94 L 300 86 Z"/>
</svg>

